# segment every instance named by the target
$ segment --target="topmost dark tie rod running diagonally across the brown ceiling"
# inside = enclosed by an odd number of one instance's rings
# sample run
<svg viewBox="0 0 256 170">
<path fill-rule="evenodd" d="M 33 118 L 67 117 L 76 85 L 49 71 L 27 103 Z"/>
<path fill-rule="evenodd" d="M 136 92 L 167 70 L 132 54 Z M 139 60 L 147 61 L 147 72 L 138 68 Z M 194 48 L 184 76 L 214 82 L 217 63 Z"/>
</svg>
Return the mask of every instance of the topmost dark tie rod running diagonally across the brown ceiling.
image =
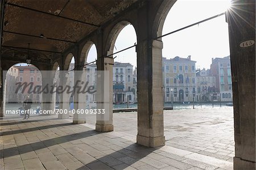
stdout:
<svg viewBox="0 0 256 170">
<path fill-rule="evenodd" d="M 55 17 L 57 17 L 57 18 L 63 18 L 63 19 L 71 20 L 71 21 L 73 21 L 73 22 L 78 22 L 78 23 L 82 23 L 82 24 L 87 24 L 87 25 L 94 26 L 94 27 L 100 27 L 99 25 L 96 25 L 96 24 L 92 24 L 92 23 L 88 23 L 88 22 L 83 22 L 83 21 L 81 21 L 81 20 L 76 20 L 76 19 L 72 19 L 72 18 L 67 18 L 67 17 L 65 17 L 65 16 L 59 16 L 59 15 L 47 13 L 47 12 L 40 11 L 40 10 L 31 9 L 31 8 L 29 8 L 29 7 L 16 5 L 16 4 L 14 4 L 14 3 L 7 3 L 7 5 L 19 7 L 20 9 L 26 9 L 26 10 L 34 11 L 34 12 L 36 12 L 36 13 L 42 13 L 42 14 L 47 14 L 47 15 L 55 16 Z"/>
</svg>

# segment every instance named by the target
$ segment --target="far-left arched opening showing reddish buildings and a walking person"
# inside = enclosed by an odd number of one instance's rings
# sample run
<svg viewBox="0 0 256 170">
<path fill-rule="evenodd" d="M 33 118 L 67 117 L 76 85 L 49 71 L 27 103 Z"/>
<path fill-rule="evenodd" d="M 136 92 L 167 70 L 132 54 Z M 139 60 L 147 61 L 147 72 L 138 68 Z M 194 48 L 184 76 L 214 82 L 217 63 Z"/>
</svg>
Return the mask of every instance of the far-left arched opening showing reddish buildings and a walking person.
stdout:
<svg viewBox="0 0 256 170">
<path fill-rule="evenodd" d="M 40 92 L 42 81 L 42 73 L 38 67 L 32 64 L 18 63 L 11 66 L 8 71 L 4 71 L 3 113 L 6 116 L 24 115 L 22 111 L 28 109 L 23 104 L 26 99 L 30 100 L 31 105 L 28 105 L 30 109 L 38 113 L 42 102 L 42 93 Z"/>
</svg>

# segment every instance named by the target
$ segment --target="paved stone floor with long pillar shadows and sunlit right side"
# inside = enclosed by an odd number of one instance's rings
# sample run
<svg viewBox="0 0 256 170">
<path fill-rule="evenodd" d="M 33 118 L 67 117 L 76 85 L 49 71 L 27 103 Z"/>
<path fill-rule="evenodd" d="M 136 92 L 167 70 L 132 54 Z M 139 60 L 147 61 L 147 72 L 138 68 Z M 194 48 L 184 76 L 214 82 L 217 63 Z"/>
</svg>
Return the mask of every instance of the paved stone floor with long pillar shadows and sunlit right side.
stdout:
<svg viewBox="0 0 256 170">
<path fill-rule="evenodd" d="M 135 144 L 136 113 L 115 113 L 114 131 L 95 118 L 73 125 L 56 116 L 0 120 L 0 169 L 233 169 L 233 108 L 164 111 L 166 146 Z"/>
</svg>

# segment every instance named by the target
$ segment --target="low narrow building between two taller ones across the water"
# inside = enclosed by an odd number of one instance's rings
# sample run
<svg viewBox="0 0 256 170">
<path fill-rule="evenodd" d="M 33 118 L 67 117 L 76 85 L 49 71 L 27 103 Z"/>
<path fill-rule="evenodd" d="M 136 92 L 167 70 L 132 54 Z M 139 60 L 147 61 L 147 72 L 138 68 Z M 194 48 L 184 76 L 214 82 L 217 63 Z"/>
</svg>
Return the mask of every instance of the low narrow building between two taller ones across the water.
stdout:
<svg viewBox="0 0 256 170">
<path fill-rule="evenodd" d="M 210 102 L 218 99 L 216 77 L 210 76 L 210 70 L 196 71 L 196 101 Z"/>
</svg>

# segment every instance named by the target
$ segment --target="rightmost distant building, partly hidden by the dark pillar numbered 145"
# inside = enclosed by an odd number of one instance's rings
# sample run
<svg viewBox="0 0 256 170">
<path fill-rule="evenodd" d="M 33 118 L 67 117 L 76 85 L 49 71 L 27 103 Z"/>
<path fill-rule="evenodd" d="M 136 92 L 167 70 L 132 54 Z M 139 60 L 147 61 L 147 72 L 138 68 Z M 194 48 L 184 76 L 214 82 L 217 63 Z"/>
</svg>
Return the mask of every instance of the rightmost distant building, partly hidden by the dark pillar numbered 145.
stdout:
<svg viewBox="0 0 256 170">
<path fill-rule="evenodd" d="M 225 102 L 232 102 L 233 93 L 230 56 L 224 58 L 212 58 L 210 73 L 216 78 L 216 88 L 217 92 L 220 93 L 220 100 Z"/>
</svg>

